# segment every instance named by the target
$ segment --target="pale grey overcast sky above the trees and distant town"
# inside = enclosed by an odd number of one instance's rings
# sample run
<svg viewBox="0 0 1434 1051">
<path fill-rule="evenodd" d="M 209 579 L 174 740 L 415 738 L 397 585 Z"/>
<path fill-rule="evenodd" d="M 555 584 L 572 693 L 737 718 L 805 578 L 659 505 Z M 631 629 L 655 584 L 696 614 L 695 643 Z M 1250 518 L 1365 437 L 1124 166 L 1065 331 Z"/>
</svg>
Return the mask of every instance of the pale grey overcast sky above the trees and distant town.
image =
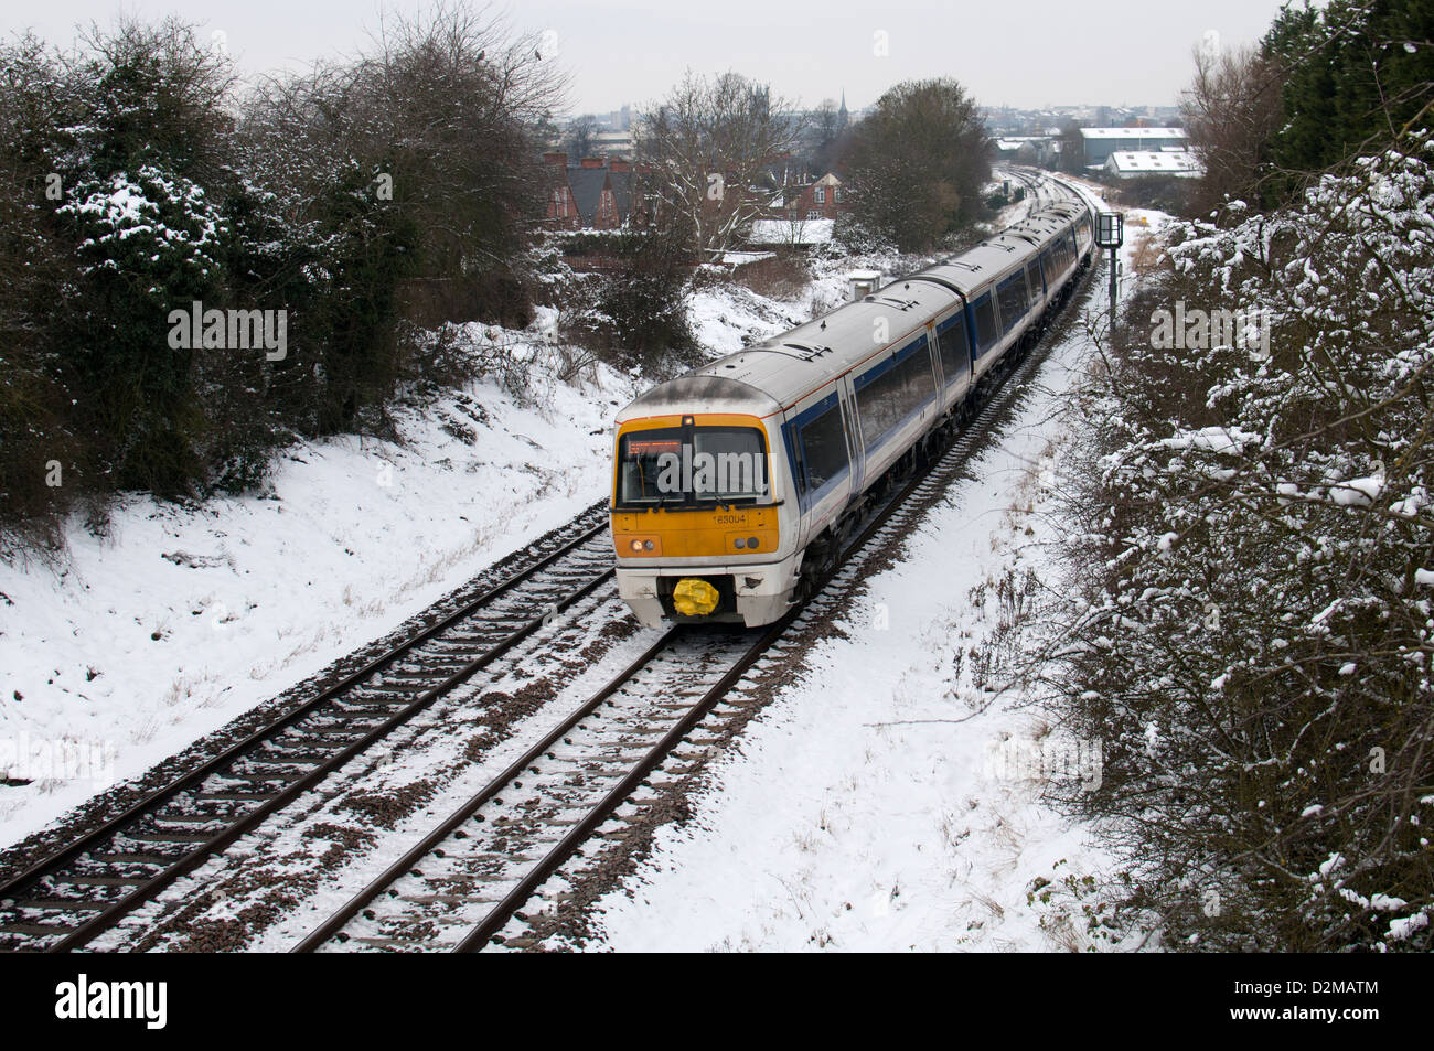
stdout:
<svg viewBox="0 0 1434 1051">
<path fill-rule="evenodd" d="M 387 0 L 412 11 L 417 0 Z M 982 105 L 1173 105 L 1190 52 L 1215 30 L 1250 43 L 1279 0 L 521 0 L 509 23 L 546 34 L 572 73 L 571 110 L 651 102 L 691 67 L 737 70 L 816 105 L 846 90 L 868 106 L 899 80 L 954 76 Z M 6 29 L 67 44 L 75 26 L 123 9 L 222 32 L 247 73 L 351 53 L 379 23 L 377 0 L 44 0 L 9 4 Z M 885 50 L 885 53 L 882 53 Z"/>
</svg>

